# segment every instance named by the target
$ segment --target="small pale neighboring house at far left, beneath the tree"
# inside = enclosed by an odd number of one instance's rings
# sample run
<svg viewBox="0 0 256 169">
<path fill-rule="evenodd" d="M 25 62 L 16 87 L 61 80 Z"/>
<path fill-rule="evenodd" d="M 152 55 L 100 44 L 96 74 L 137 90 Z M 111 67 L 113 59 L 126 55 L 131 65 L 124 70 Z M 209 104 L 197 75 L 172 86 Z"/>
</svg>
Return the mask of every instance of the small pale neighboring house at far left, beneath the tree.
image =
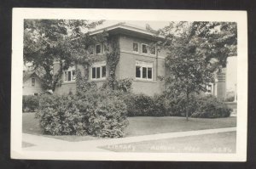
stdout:
<svg viewBox="0 0 256 169">
<path fill-rule="evenodd" d="M 23 95 L 39 95 L 44 92 L 41 80 L 35 72 L 23 70 L 22 92 Z"/>
</svg>

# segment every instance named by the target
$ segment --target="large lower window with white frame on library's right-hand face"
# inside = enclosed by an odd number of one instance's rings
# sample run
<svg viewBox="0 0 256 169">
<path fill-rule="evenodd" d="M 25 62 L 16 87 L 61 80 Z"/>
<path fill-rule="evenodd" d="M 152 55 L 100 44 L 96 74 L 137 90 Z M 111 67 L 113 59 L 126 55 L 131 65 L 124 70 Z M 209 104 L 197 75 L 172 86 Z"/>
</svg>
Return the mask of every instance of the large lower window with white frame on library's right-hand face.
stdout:
<svg viewBox="0 0 256 169">
<path fill-rule="evenodd" d="M 153 80 L 153 62 L 136 61 L 136 78 Z"/>
</svg>

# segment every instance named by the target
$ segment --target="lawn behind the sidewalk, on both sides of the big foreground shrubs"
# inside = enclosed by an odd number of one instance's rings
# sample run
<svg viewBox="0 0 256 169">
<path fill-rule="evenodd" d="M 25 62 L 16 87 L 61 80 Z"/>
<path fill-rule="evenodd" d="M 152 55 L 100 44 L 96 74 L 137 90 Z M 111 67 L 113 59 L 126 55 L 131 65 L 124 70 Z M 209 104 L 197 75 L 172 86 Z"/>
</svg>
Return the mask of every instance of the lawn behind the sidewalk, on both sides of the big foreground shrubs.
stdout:
<svg viewBox="0 0 256 169">
<path fill-rule="evenodd" d="M 39 127 L 38 119 L 35 119 L 34 113 L 22 114 L 22 132 L 43 135 Z M 236 117 L 218 118 L 218 119 L 196 119 L 189 118 L 185 121 L 184 117 L 166 116 L 166 117 L 129 117 L 129 126 L 126 128 L 126 137 L 148 135 L 163 132 L 185 132 L 192 130 L 203 130 L 222 127 L 236 127 Z M 98 139 L 91 136 L 50 136 L 67 141 L 85 141 Z"/>
</svg>

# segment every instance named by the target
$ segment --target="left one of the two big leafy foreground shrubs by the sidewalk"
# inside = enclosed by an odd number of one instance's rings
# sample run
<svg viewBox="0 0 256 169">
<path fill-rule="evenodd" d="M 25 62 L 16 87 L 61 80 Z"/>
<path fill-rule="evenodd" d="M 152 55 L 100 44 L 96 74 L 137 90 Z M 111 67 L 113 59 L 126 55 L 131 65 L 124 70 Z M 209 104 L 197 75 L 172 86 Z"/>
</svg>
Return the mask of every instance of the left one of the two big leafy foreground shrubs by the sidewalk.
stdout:
<svg viewBox="0 0 256 169">
<path fill-rule="evenodd" d="M 45 134 L 83 135 L 85 124 L 73 95 L 42 95 L 36 117 Z"/>
</svg>

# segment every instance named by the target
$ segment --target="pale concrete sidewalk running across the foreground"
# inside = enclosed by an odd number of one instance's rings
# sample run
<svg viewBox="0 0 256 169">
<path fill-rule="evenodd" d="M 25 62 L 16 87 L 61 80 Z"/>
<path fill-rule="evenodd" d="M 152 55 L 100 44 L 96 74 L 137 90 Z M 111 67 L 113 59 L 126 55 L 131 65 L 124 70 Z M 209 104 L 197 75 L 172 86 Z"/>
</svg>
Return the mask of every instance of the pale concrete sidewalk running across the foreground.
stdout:
<svg viewBox="0 0 256 169">
<path fill-rule="evenodd" d="M 187 132 L 166 132 L 152 135 L 134 136 L 127 138 L 105 138 L 80 142 L 68 142 L 55 138 L 46 138 L 43 136 L 36 136 L 32 134 L 23 133 L 22 140 L 26 143 L 35 144 L 35 146 L 23 148 L 23 150 L 50 150 L 50 151 L 108 151 L 106 149 L 99 149 L 100 146 L 113 144 L 128 144 L 134 142 L 142 142 L 148 140 L 158 140 L 165 138 L 180 138 L 186 136 L 195 136 L 203 134 L 211 134 L 218 132 L 233 132 L 236 127 L 207 129 Z"/>
</svg>

